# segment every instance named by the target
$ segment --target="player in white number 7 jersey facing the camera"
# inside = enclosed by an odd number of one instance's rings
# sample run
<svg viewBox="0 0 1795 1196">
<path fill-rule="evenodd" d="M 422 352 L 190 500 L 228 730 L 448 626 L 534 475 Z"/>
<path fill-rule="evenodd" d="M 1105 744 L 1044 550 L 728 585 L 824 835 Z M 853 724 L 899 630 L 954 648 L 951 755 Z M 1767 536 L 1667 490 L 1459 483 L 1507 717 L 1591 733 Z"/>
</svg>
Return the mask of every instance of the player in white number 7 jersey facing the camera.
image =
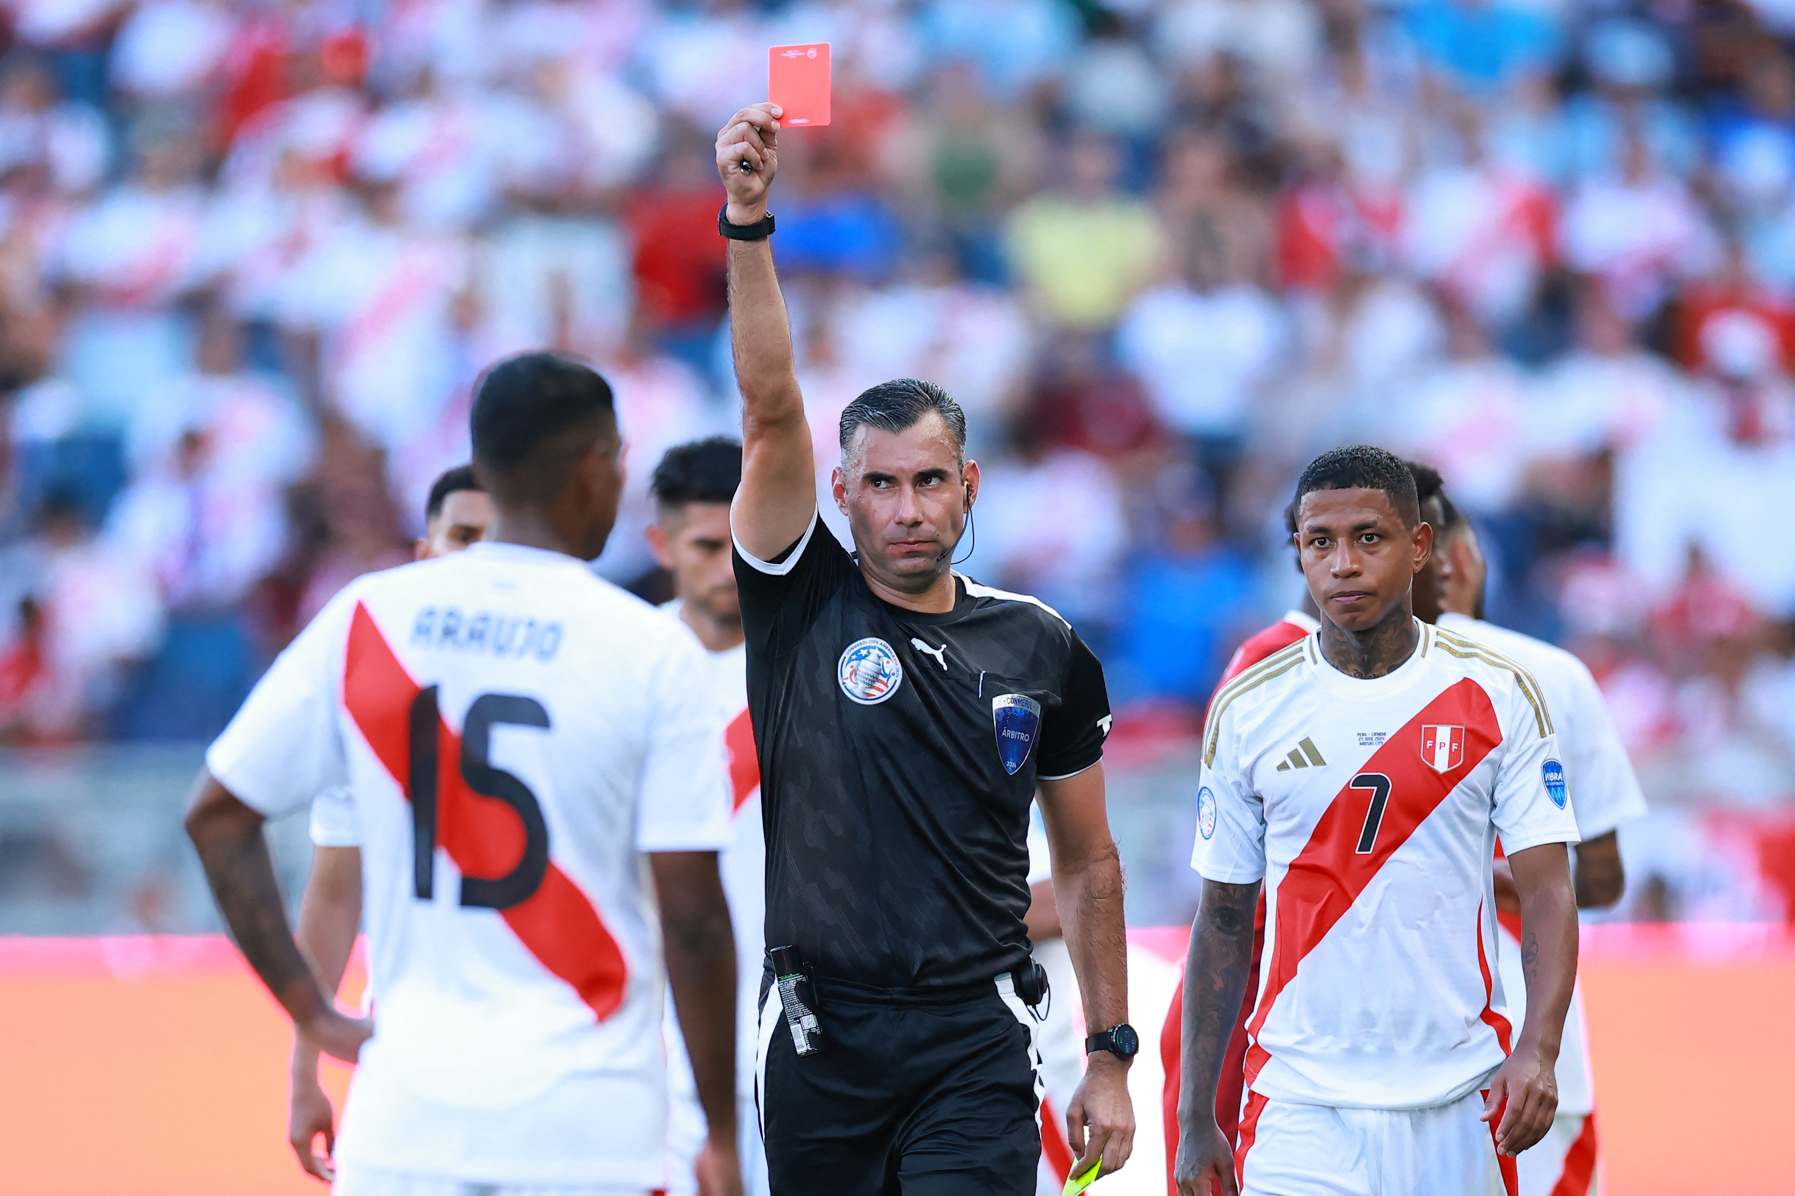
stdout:
<svg viewBox="0 0 1795 1196">
<path fill-rule="evenodd" d="M 1578 834 L 1551 710 L 1526 669 L 1414 619 L 1432 529 L 1400 459 L 1327 452 L 1296 502 L 1321 628 L 1222 687 L 1203 735 L 1179 1191 L 1515 1196 L 1513 1157 L 1556 1110 L 1576 974 Z M 1497 836 L 1524 923 L 1519 1026 L 1495 963 Z M 1215 1085 L 1262 880 L 1230 1149 Z"/>
</svg>

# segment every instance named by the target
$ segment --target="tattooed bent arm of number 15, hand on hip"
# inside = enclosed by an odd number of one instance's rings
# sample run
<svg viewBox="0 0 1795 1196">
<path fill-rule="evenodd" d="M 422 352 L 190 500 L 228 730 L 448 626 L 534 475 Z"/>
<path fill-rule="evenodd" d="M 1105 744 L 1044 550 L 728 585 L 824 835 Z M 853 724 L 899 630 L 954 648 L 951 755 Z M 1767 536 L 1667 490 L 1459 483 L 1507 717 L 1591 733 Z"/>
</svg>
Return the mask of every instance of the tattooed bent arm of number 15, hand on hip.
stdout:
<svg viewBox="0 0 1795 1196">
<path fill-rule="evenodd" d="M 262 814 L 203 771 L 187 809 L 187 836 L 199 852 L 219 913 L 255 974 L 287 1010 L 294 1027 L 327 1054 L 355 1062 L 372 1027 L 343 1017 L 325 997 L 287 925 Z"/>
</svg>

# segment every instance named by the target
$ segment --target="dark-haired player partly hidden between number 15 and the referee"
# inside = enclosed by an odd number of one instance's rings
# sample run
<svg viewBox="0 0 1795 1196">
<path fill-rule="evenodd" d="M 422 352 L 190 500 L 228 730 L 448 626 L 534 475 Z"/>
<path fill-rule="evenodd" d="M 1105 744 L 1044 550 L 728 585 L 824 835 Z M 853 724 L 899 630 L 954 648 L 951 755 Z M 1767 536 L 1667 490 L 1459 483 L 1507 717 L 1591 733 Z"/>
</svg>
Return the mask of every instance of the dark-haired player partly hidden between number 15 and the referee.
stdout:
<svg viewBox="0 0 1795 1196">
<path fill-rule="evenodd" d="M 670 448 L 655 466 L 650 490 L 655 522 L 648 543 L 673 574 L 675 599 L 664 610 L 704 644 L 729 748 L 732 821 L 729 846 L 718 855 L 729 922 L 736 929 L 736 1121 L 741 1144 L 741 1191 L 766 1194 L 766 1157 L 754 1114 L 754 1024 L 766 952 L 766 839 L 761 832 L 761 769 L 749 723 L 747 651 L 741 646 L 741 602 L 729 556 L 729 502 L 741 482 L 741 445 L 714 438 Z M 704 1149 L 705 1121 L 679 1018 L 668 1006 L 668 1196 L 698 1191 L 695 1162 Z"/>
</svg>

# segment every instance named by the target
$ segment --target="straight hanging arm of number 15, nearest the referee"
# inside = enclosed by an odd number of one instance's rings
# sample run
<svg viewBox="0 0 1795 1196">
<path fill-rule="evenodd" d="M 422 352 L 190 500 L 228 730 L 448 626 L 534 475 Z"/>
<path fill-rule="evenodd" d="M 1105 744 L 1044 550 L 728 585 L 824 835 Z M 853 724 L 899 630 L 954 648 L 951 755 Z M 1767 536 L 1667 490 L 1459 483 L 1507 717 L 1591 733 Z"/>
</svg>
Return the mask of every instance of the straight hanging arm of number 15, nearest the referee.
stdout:
<svg viewBox="0 0 1795 1196">
<path fill-rule="evenodd" d="M 707 1196 L 740 1196 L 736 1160 L 736 936 L 716 852 L 655 852 L 661 929 L 673 1010 L 711 1126 L 700 1178 Z M 704 1173 L 709 1174 L 704 1174 Z"/>
</svg>

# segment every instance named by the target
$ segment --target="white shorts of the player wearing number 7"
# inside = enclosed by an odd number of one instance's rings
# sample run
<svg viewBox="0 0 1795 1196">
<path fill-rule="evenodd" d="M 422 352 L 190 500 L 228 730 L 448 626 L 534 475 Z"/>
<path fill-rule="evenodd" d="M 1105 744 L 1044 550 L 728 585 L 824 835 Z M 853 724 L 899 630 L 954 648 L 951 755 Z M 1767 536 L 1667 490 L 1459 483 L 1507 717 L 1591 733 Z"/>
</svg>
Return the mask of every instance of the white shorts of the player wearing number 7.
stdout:
<svg viewBox="0 0 1795 1196">
<path fill-rule="evenodd" d="M 1248 1094 L 1240 1196 L 1515 1196 L 1483 1094 L 1434 1108 L 1332 1108 Z"/>
</svg>

